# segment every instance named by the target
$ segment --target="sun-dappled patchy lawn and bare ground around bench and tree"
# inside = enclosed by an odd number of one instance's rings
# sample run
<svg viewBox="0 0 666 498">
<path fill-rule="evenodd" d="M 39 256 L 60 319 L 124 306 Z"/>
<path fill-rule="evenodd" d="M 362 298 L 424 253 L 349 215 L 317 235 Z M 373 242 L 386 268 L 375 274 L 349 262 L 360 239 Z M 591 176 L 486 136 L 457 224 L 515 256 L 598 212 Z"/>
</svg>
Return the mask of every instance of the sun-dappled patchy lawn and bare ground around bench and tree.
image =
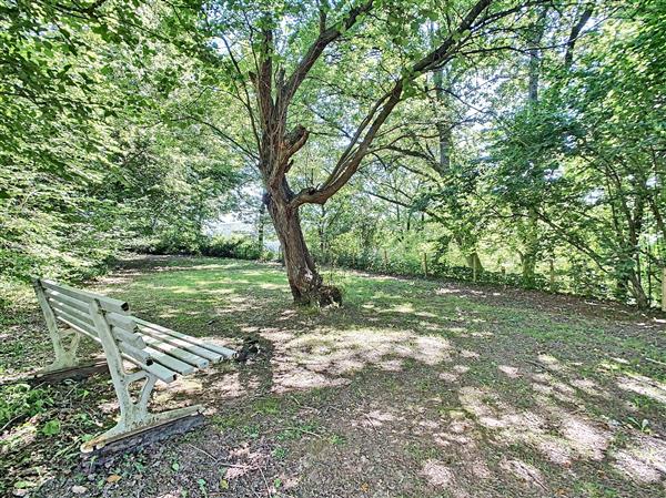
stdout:
<svg viewBox="0 0 666 498">
<path fill-rule="evenodd" d="M 0 494 L 666 492 L 664 317 L 502 287 L 326 276 L 344 288 L 343 308 L 295 308 L 275 265 L 124 262 L 94 288 L 186 334 L 232 347 L 256 338 L 259 355 L 159 389 L 155 408 L 201 403 L 209 424 L 103 466 L 80 465 L 78 447 L 113 425 L 110 380 L 39 386 L 40 413 L 1 430 Z M 49 362 L 34 302 L 0 323 L 0 378 Z"/>
</svg>

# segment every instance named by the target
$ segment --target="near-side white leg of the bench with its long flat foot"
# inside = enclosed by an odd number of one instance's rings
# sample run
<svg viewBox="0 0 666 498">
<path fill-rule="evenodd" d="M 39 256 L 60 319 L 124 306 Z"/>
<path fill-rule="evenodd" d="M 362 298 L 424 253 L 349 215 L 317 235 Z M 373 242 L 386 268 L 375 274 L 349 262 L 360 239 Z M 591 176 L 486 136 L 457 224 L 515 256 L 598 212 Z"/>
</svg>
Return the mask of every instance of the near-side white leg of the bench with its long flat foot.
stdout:
<svg viewBox="0 0 666 498">
<path fill-rule="evenodd" d="M 150 413 L 148 410 L 148 403 L 157 380 L 154 375 L 147 374 L 145 372 L 113 375 L 112 372 L 111 377 L 113 378 L 113 386 L 115 387 L 120 404 L 120 419 L 115 426 L 104 434 L 84 443 L 81 446 L 82 453 L 93 451 L 119 439 L 124 439 L 154 427 L 200 414 L 203 410 L 201 406 L 195 405 L 159 414 Z M 130 395 L 129 385 L 142 379 L 145 379 L 145 384 L 141 388 L 138 399 L 134 402 Z"/>
</svg>

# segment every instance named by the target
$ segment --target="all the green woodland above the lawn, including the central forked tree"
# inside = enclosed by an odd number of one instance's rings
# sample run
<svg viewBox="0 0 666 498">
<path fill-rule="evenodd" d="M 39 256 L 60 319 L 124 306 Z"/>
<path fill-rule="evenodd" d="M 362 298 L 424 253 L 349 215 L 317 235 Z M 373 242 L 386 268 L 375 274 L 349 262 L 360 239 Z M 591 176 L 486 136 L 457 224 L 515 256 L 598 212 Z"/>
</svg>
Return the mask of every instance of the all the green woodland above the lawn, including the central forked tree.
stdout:
<svg viewBox="0 0 666 498">
<path fill-rule="evenodd" d="M 296 302 L 333 265 L 657 305 L 664 47 L 657 0 L 4 0 L 2 296 L 274 237 Z"/>
</svg>

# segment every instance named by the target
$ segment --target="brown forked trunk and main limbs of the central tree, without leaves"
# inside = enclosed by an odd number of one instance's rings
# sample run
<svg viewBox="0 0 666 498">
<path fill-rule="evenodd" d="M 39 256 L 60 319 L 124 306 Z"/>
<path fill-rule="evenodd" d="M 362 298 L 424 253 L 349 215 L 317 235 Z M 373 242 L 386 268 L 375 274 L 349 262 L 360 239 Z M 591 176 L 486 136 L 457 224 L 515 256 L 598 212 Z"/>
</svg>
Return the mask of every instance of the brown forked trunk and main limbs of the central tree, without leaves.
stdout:
<svg viewBox="0 0 666 498">
<path fill-rule="evenodd" d="M 278 26 L 279 22 L 273 22 L 270 12 L 262 17 L 263 26 L 258 29 L 259 50 L 255 52 L 259 55 L 255 59 L 259 64 L 256 72 L 248 74 L 256 96 L 256 114 L 251 109 L 248 89 L 245 98 L 241 96 L 241 101 L 246 99 L 244 103 L 249 109 L 259 145 L 259 154 L 254 159 L 259 160 L 258 167 L 266 189 L 264 202 L 280 238 L 289 284 L 296 303 L 327 305 L 342 301 L 340 291 L 323 285 L 323 280 L 316 271 L 301 230 L 299 206 L 307 203 L 324 204 L 350 181 L 370 153 L 370 146 L 377 132 L 403 99 L 405 84 L 410 84 L 420 74 L 448 62 L 457 51 L 458 42 L 470 37 L 472 30 L 481 27 L 481 23 L 477 24 L 477 18 L 491 2 L 492 0 L 477 0 L 461 19 L 457 28 L 436 49 L 411 64 L 410 75 L 395 81 L 392 89 L 380 96 L 371 112 L 362 120 L 353 140 L 341 154 L 329 177 L 321 185 L 303 189 L 295 195 L 289 187 L 286 174 L 294 163 L 292 157 L 305 145 L 309 131 L 299 124 L 287 132 L 287 114 L 292 100 L 326 47 L 339 40 L 363 14 L 371 11 L 374 2 L 365 0 L 356 4 L 341 20 L 331 24 L 326 19 L 329 9 L 321 9 L 319 35 L 289 75 L 281 64 L 273 64 L 276 49 L 271 26 Z M 244 80 L 243 71 L 231 50 L 230 59 Z"/>
</svg>

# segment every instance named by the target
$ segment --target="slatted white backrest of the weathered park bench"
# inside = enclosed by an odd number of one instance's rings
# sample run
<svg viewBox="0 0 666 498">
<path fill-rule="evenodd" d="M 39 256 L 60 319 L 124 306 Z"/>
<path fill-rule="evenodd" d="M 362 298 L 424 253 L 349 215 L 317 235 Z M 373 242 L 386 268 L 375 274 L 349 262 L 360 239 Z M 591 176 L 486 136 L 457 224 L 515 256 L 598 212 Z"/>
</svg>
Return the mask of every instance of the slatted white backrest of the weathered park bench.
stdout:
<svg viewBox="0 0 666 498">
<path fill-rule="evenodd" d="M 140 364 L 152 364 L 150 355 L 142 350 L 145 342 L 137 334 L 138 325 L 128 303 L 46 278 L 37 278 L 34 287 L 43 298 L 40 298 L 42 308 L 47 304 L 58 322 L 102 345 L 107 356 L 127 356 Z M 105 324 L 102 331 L 97 322 L 99 315 Z M 100 336 L 105 333 L 111 335 L 112 342 Z M 107 350 L 113 346 L 118 350 Z"/>
</svg>

